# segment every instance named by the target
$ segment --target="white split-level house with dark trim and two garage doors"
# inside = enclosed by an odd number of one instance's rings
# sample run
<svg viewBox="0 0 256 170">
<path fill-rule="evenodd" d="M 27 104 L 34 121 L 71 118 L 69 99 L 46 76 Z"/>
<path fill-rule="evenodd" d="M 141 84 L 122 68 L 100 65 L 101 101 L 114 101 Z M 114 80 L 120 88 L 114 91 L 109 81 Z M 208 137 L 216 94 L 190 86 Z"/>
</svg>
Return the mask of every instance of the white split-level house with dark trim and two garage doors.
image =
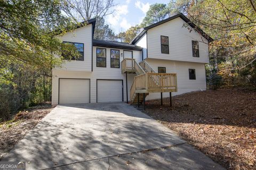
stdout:
<svg viewBox="0 0 256 170">
<path fill-rule="evenodd" d="M 143 28 L 129 43 L 93 39 L 95 19 L 59 36 L 81 57 L 52 69 L 52 105 L 169 97 L 206 90 L 213 40 L 183 14 Z"/>
</svg>

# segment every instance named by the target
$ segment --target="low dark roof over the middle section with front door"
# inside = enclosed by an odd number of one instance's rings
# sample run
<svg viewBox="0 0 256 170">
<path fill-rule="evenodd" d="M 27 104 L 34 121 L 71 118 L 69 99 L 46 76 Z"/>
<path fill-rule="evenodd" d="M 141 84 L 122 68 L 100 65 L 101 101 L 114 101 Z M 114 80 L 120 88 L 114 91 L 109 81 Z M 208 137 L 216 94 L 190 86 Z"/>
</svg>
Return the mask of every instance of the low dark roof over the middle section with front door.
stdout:
<svg viewBox="0 0 256 170">
<path fill-rule="evenodd" d="M 129 44 L 129 43 L 121 43 L 117 41 L 107 41 L 107 40 L 92 40 L 93 46 L 99 47 L 109 47 L 109 48 L 119 48 L 119 49 L 131 49 L 131 50 L 142 50 L 141 47 Z"/>
</svg>

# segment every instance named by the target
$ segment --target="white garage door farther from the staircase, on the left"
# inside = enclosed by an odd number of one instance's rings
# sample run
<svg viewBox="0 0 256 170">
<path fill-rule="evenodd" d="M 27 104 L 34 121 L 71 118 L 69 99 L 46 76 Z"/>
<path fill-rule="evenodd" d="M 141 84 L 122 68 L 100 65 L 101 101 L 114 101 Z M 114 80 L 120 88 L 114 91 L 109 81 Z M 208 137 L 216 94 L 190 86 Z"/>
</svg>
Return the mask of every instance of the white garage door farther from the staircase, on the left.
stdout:
<svg viewBox="0 0 256 170">
<path fill-rule="evenodd" d="M 59 81 L 59 104 L 90 102 L 90 80 L 59 79 Z"/>
</svg>

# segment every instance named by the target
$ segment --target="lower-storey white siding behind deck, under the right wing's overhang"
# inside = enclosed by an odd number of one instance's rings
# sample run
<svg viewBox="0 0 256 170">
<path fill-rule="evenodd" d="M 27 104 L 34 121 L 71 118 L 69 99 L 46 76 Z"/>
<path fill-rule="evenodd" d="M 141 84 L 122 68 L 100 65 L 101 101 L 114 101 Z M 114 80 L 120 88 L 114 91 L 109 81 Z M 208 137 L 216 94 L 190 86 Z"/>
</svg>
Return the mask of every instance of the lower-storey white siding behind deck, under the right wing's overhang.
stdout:
<svg viewBox="0 0 256 170">
<path fill-rule="evenodd" d="M 173 96 L 191 91 L 206 90 L 204 63 L 173 62 L 151 58 L 147 58 L 146 61 L 155 71 L 158 70 L 158 67 L 166 67 L 166 73 L 177 73 L 178 92 L 173 92 Z M 188 69 L 196 70 L 196 80 L 189 80 Z M 163 96 L 169 97 L 169 93 L 163 93 Z M 149 100 L 159 97 L 159 93 L 152 93 L 146 99 Z"/>
</svg>

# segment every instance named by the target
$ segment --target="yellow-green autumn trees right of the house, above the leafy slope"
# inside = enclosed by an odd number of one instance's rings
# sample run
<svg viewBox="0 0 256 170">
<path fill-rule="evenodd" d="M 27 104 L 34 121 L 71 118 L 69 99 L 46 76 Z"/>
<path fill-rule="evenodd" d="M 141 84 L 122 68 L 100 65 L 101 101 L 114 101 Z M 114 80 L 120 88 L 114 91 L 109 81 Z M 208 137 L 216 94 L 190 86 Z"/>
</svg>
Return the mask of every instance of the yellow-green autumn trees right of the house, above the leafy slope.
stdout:
<svg viewBox="0 0 256 170">
<path fill-rule="evenodd" d="M 255 6 L 252 0 L 193 0 L 182 6 L 190 20 L 215 39 L 210 54 L 214 54 L 214 63 L 223 79 L 232 79 L 227 80 L 231 83 L 236 77 L 243 76 L 249 81 L 256 78 Z"/>
</svg>

